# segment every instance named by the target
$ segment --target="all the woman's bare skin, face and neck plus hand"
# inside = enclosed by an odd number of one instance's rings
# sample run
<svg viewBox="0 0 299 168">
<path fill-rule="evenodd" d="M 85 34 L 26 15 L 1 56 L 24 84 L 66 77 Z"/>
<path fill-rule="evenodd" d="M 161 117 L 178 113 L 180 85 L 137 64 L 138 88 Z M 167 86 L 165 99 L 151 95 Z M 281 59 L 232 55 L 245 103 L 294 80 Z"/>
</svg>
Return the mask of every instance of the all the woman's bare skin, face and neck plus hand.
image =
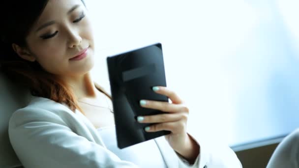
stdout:
<svg viewBox="0 0 299 168">
<path fill-rule="evenodd" d="M 76 9 L 68 11 L 78 5 Z M 80 20 L 80 21 L 79 21 Z M 42 28 L 50 21 L 55 24 Z M 79 21 L 79 22 L 76 22 Z M 76 23 L 74 23 L 76 22 Z M 42 39 L 45 34 L 57 34 Z M 94 40 L 88 11 L 81 0 L 49 0 L 41 16 L 26 38 L 27 47 L 12 44 L 15 52 L 23 59 L 37 61 L 45 71 L 55 74 L 69 84 L 78 100 L 96 100 L 99 91 L 94 86 L 90 70 L 94 66 Z M 80 61 L 70 60 L 88 47 L 88 55 Z M 143 123 L 156 123 L 149 132 L 168 130 L 165 136 L 171 147 L 193 163 L 199 155 L 199 144 L 186 132 L 189 110 L 172 90 L 159 86 L 158 94 L 166 95 L 172 103 L 146 100 L 144 108 L 161 110 L 167 114 L 143 116 Z"/>
</svg>

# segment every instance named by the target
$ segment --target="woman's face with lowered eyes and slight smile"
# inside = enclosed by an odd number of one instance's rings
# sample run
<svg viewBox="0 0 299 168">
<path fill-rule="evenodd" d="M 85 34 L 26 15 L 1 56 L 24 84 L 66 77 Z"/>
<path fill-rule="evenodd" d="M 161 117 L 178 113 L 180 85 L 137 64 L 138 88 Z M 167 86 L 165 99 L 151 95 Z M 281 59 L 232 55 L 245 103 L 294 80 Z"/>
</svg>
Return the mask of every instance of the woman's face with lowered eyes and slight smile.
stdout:
<svg viewBox="0 0 299 168">
<path fill-rule="evenodd" d="M 83 75 L 93 67 L 93 34 L 81 0 L 49 0 L 26 41 L 30 54 L 52 74 Z M 71 59 L 85 49 L 85 58 Z"/>
</svg>

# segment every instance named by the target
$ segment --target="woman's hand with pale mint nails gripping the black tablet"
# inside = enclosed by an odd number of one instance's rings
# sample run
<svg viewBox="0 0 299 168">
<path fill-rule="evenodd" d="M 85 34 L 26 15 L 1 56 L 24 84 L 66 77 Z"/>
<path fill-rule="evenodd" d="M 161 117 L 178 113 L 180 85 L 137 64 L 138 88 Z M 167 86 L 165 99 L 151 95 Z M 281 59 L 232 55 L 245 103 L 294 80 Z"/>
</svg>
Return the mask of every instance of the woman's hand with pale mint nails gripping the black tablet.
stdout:
<svg viewBox="0 0 299 168">
<path fill-rule="evenodd" d="M 157 123 L 146 127 L 147 132 L 171 131 L 171 134 L 165 136 L 170 146 L 184 158 L 193 162 L 199 154 L 199 145 L 186 132 L 189 109 L 175 92 L 166 87 L 155 86 L 153 90 L 158 94 L 169 97 L 172 103 L 141 100 L 140 105 L 144 108 L 168 113 L 138 116 L 137 121 L 140 123 Z"/>
</svg>

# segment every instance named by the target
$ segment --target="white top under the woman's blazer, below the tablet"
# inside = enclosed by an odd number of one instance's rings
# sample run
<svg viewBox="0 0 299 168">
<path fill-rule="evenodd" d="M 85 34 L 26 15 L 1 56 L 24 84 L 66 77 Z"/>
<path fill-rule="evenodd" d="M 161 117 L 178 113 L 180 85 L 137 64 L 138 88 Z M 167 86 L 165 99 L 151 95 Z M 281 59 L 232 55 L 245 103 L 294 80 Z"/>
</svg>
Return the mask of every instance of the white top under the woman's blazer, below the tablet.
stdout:
<svg viewBox="0 0 299 168">
<path fill-rule="evenodd" d="M 121 160 L 132 162 L 141 168 L 167 168 L 159 147 L 154 140 L 147 140 L 126 148 L 117 146 L 115 126 L 97 129 L 105 146 Z"/>
</svg>

